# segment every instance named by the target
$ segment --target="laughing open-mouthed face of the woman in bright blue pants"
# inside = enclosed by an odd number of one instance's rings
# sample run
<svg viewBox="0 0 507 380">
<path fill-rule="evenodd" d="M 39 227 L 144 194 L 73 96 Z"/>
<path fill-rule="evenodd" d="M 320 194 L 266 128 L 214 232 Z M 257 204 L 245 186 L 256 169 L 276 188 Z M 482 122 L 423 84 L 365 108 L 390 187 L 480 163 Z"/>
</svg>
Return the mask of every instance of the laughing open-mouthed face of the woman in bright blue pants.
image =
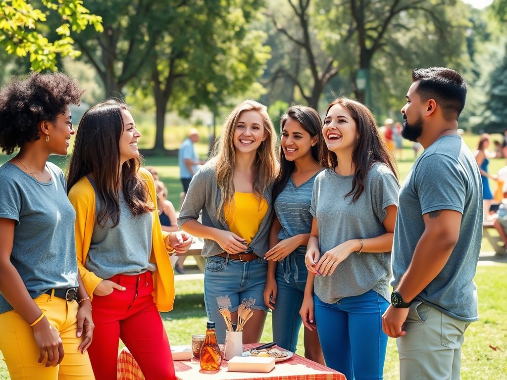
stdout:
<svg viewBox="0 0 507 380">
<path fill-rule="evenodd" d="M 335 104 L 329 109 L 322 133 L 329 150 L 335 153 L 346 151 L 352 154 L 359 138 L 354 119 L 347 108 L 340 104 Z"/>
</svg>

